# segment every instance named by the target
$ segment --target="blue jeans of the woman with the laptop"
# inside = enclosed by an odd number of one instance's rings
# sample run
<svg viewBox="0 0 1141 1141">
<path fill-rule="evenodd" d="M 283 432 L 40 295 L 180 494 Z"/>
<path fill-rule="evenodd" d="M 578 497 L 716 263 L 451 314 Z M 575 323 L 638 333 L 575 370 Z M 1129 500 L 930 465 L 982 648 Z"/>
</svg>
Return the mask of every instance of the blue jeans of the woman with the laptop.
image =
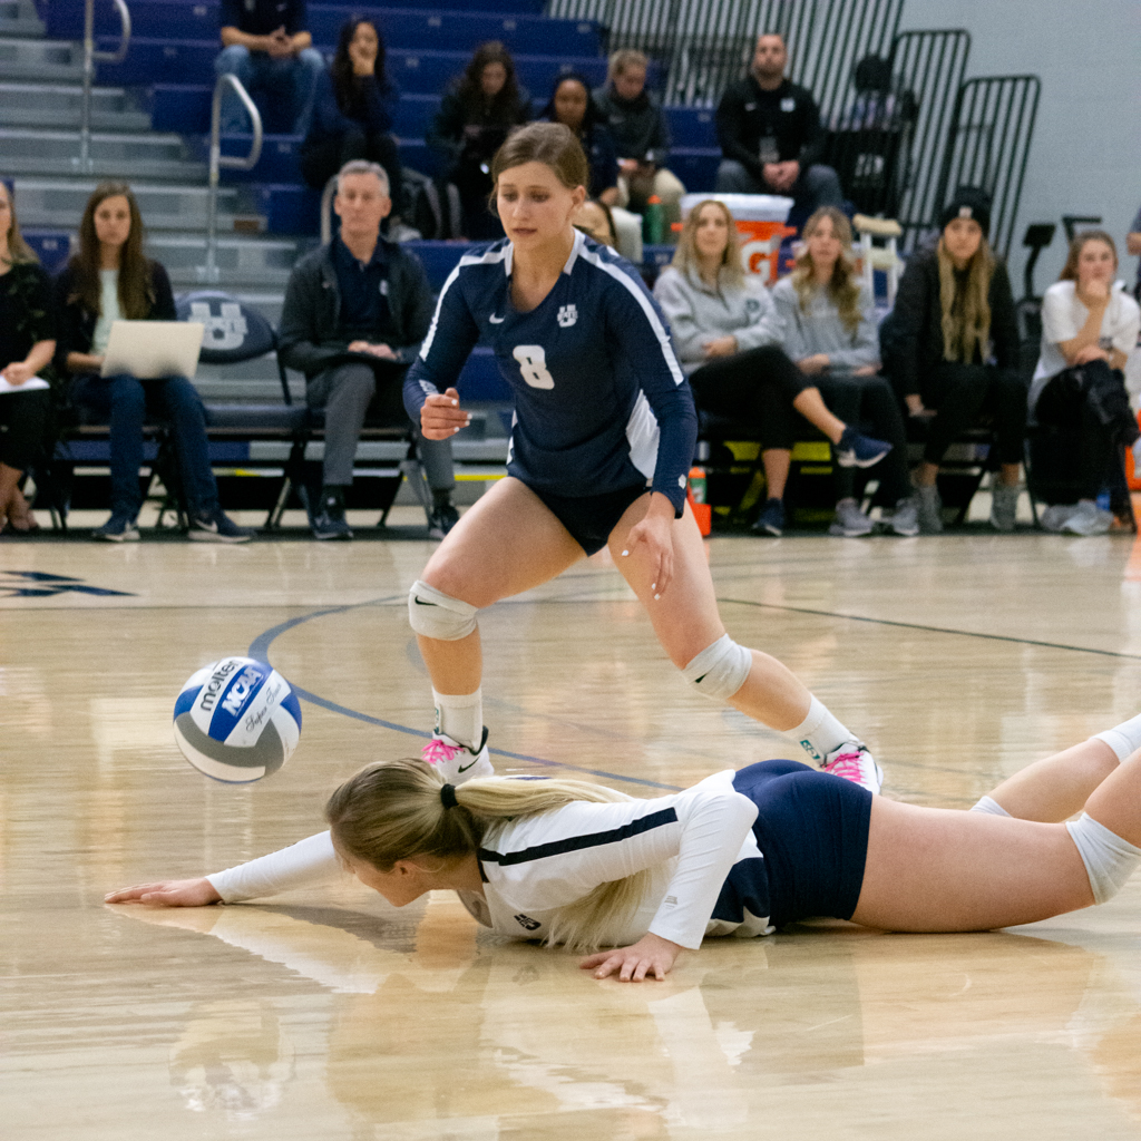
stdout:
<svg viewBox="0 0 1141 1141">
<path fill-rule="evenodd" d="M 195 387 L 185 377 L 136 380 L 119 377 L 78 377 L 72 399 L 111 423 L 111 510 L 133 519 L 143 505 L 139 468 L 143 466 L 143 424 L 147 405 L 170 421 L 183 476 L 186 504 L 192 515 L 218 510 L 218 485 L 210 468 L 207 414 Z"/>
</svg>

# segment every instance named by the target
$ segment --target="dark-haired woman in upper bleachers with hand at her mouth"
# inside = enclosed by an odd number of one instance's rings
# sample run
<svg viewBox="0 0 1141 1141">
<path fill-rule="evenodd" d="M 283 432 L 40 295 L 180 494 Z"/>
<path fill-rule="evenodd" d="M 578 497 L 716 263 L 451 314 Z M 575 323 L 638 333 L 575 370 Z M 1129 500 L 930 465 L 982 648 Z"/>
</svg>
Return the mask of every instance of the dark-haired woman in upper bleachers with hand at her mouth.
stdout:
<svg viewBox="0 0 1141 1141">
<path fill-rule="evenodd" d="M 329 71 L 317 78 L 313 121 L 301 144 L 301 173 L 316 191 L 347 162 L 379 162 L 394 191 L 403 186 L 393 129 L 396 89 L 385 73 L 385 41 L 370 19 L 341 25 Z M 394 209 L 397 205 L 394 203 Z"/>
</svg>

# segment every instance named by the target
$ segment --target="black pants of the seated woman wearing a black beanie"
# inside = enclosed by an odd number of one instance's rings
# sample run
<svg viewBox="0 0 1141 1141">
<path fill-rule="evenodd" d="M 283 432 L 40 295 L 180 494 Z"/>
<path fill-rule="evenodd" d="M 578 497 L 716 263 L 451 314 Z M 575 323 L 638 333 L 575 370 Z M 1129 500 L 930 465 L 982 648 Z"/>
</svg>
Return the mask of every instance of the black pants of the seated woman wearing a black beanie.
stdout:
<svg viewBox="0 0 1141 1141">
<path fill-rule="evenodd" d="M 1013 369 L 944 362 L 926 377 L 921 396 L 936 410 L 923 448 L 926 463 L 939 463 L 955 438 L 984 414 L 994 418 L 998 462 L 1022 462 L 1027 386 Z"/>
</svg>

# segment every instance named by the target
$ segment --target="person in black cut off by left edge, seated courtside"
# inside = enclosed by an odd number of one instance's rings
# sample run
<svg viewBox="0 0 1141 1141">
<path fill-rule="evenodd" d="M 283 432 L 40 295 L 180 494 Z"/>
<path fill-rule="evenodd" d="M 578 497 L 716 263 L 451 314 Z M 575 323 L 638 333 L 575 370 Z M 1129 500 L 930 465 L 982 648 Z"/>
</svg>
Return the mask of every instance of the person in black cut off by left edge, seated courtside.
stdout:
<svg viewBox="0 0 1141 1141">
<path fill-rule="evenodd" d="M 21 491 L 43 446 L 50 394 L 24 386 L 56 350 L 51 282 L 24 241 L 11 192 L 0 183 L 0 531 L 27 534 L 39 524 Z"/>
</svg>

